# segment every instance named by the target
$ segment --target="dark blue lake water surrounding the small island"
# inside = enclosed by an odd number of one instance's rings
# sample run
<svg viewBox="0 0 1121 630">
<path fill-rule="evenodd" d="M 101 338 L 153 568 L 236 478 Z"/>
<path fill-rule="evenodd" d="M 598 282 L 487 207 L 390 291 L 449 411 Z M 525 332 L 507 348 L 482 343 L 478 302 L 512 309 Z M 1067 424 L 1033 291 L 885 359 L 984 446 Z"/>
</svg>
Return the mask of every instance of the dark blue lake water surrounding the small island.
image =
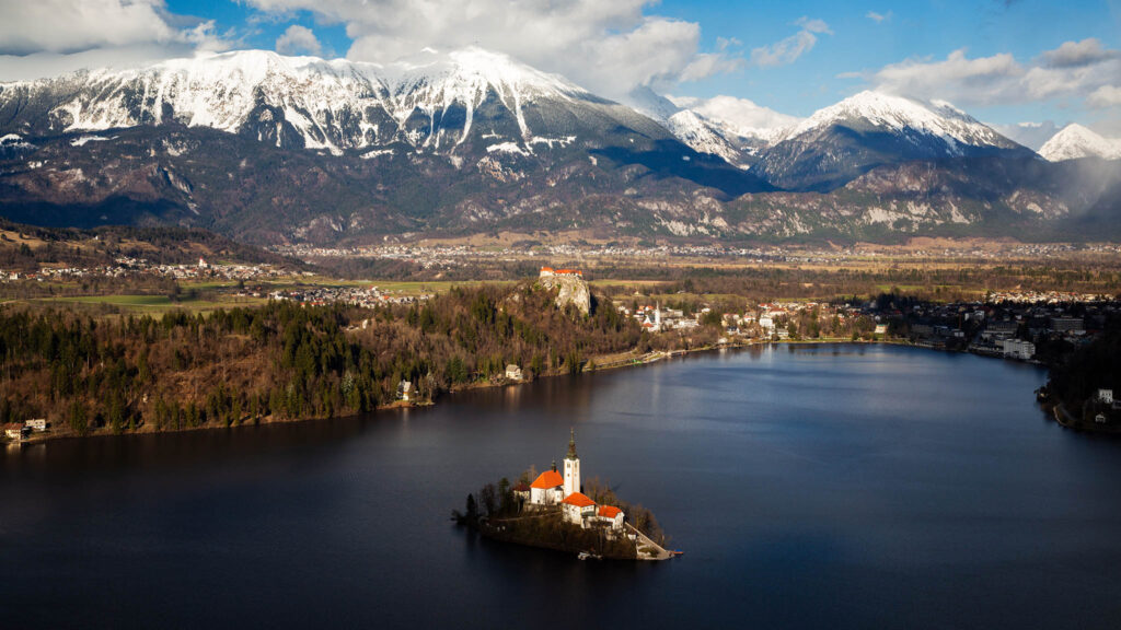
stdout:
<svg viewBox="0 0 1121 630">
<path fill-rule="evenodd" d="M 773 346 L 428 409 L 0 454 L 2 628 L 1118 628 L 1121 442 L 1038 368 Z M 685 552 L 581 562 L 450 520 L 545 470 Z"/>
</svg>

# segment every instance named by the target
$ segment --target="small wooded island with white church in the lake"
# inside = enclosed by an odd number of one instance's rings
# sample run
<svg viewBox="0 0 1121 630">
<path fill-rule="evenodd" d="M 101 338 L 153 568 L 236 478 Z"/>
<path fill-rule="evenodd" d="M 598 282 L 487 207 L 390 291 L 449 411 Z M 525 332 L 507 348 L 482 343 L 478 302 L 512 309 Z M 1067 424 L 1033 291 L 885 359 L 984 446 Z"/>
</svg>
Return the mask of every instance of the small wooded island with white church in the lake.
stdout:
<svg viewBox="0 0 1121 630">
<path fill-rule="evenodd" d="M 568 439 L 564 472 L 530 469 L 511 485 L 503 478 L 467 494 L 464 511 L 453 510 L 461 526 L 503 543 L 575 554 L 581 559 L 665 560 L 680 554 L 666 549 L 657 519 L 641 506 L 620 501 L 610 485 L 581 483 L 576 432 Z"/>
</svg>

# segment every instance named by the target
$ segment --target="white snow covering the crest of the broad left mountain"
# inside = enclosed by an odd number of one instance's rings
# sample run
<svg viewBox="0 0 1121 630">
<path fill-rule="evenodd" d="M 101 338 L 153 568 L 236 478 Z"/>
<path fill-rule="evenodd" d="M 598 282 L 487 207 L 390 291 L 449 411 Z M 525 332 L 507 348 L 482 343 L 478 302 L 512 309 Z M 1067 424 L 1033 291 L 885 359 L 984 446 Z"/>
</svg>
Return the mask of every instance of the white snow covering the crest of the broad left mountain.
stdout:
<svg viewBox="0 0 1121 630">
<path fill-rule="evenodd" d="M 540 98 L 591 99 L 560 76 L 475 47 L 446 54 L 427 49 L 386 65 L 237 50 L 141 68 L 84 71 L 25 83 L 20 89 L 58 99 L 49 112 L 53 129 L 161 124 L 172 115 L 188 127 L 226 132 L 258 124 L 260 139 L 278 146 L 290 139 L 287 130 L 294 128 L 306 148 L 332 152 L 395 139 L 439 148 L 442 135 L 458 145 L 490 94 L 515 114 L 518 139 L 528 141 L 532 131 L 522 114 L 527 103 Z M 4 95 L 0 89 L 0 99 Z M 262 112 L 262 106 L 270 111 Z M 462 121 L 462 128 L 437 129 L 443 114 L 453 108 L 465 110 L 464 115 L 452 117 Z M 418 115 L 429 121 L 428 131 L 418 131 L 418 123 L 406 129 Z M 379 123 L 386 117 L 396 126 Z M 260 129 L 259 123 L 272 129 Z M 388 127 L 395 129 L 387 131 Z"/>
</svg>

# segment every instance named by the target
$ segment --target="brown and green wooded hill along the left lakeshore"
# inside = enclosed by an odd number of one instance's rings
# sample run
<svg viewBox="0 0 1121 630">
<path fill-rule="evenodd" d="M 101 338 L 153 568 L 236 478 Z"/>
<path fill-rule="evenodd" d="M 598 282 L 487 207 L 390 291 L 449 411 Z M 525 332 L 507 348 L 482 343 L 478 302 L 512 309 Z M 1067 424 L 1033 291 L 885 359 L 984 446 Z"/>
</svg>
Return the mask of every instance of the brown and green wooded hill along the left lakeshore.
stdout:
<svg viewBox="0 0 1121 630">
<path fill-rule="evenodd" d="M 453 288 L 376 309 L 274 302 L 209 316 L 94 319 L 0 311 L 0 420 L 47 418 L 56 433 L 159 432 L 325 418 L 500 382 L 578 372 L 646 336 L 614 308 L 558 309 L 521 285 Z"/>
</svg>

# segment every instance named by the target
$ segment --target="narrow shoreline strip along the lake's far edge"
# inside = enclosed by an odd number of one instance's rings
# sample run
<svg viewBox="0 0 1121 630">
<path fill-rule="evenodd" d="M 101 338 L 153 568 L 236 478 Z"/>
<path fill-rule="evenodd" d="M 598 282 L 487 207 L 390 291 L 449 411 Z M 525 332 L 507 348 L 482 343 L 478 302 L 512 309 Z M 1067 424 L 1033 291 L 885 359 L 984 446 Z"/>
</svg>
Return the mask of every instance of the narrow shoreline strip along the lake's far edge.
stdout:
<svg viewBox="0 0 1121 630">
<path fill-rule="evenodd" d="M 674 359 L 674 358 L 678 358 L 678 356 L 687 356 L 687 355 L 691 355 L 691 354 L 700 354 L 700 353 L 706 353 L 706 352 L 719 352 L 719 351 L 722 351 L 722 350 L 744 350 L 744 349 L 750 349 L 750 348 L 756 348 L 756 346 L 766 346 L 766 345 L 775 345 L 775 346 L 779 346 L 779 345 L 895 345 L 895 346 L 902 346 L 902 348 L 915 348 L 915 349 L 921 349 L 921 350 L 949 352 L 949 351 L 946 351 L 944 349 L 935 349 L 935 348 L 918 345 L 918 344 L 915 344 L 915 343 L 910 343 L 910 342 L 906 342 L 906 341 L 901 341 L 901 340 L 895 340 L 895 339 L 874 340 L 874 341 L 863 341 L 863 340 L 853 341 L 851 339 L 842 339 L 842 337 L 836 337 L 836 339 L 816 339 L 816 340 L 778 340 L 778 341 L 772 341 L 772 340 L 766 340 L 766 341 L 762 341 L 762 340 L 748 340 L 748 341 L 741 341 L 741 342 L 734 342 L 734 343 L 723 343 L 723 344 L 715 344 L 715 345 L 704 345 L 704 346 L 700 346 L 700 348 L 679 349 L 679 350 L 671 350 L 671 351 L 660 351 L 660 350 L 659 351 L 651 351 L 651 352 L 647 352 L 645 354 L 634 355 L 630 360 L 621 360 L 621 361 L 606 362 L 604 364 L 599 363 L 596 361 L 596 358 L 593 356 L 593 358 L 589 359 L 587 363 L 585 363 L 584 368 L 580 371 L 580 374 L 594 374 L 595 372 L 600 372 L 600 371 L 612 371 L 612 370 L 620 370 L 620 369 L 624 369 L 624 368 L 640 368 L 640 367 L 643 367 L 643 365 L 650 365 L 650 364 L 659 363 L 661 361 L 666 361 L 666 360 L 669 360 L 669 359 Z M 992 356 L 992 355 L 980 354 L 980 353 L 975 353 L 975 352 L 967 352 L 967 351 L 960 351 L 958 352 L 958 351 L 955 351 L 955 353 L 973 354 L 973 355 L 976 355 L 976 356 L 985 356 L 985 358 L 990 358 L 990 359 L 1001 359 L 1001 360 L 1007 361 L 1007 359 L 1003 359 L 1002 356 Z M 610 356 L 619 356 L 621 354 L 626 354 L 626 353 L 614 353 L 614 354 L 600 355 L 600 356 L 610 358 Z M 1016 360 L 1015 362 L 1044 367 L 1043 363 L 1039 363 L 1039 362 L 1036 362 L 1036 361 L 1019 361 L 1019 360 Z M 589 365 L 592 365 L 592 367 L 589 368 Z M 518 386 L 522 386 L 522 385 L 532 383 L 532 382 L 537 381 L 538 379 L 557 378 L 557 377 L 564 377 L 564 376 L 571 376 L 571 374 L 565 374 L 565 373 L 558 372 L 558 373 L 546 373 L 546 374 L 543 374 L 543 376 L 539 376 L 539 377 L 535 377 L 532 380 L 511 381 L 511 380 L 503 379 L 500 382 L 476 382 L 476 383 L 471 383 L 471 385 L 469 385 L 466 387 L 450 389 L 447 392 L 445 392 L 445 396 L 457 393 L 457 392 L 478 390 L 478 389 L 494 389 L 494 388 L 501 388 L 501 387 L 518 387 Z M 210 426 L 210 425 L 203 425 L 203 426 L 197 426 L 197 427 L 179 427 L 179 428 L 172 428 L 172 429 L 155 429 L 155 428 L 141 427 L 141 428 L 138 428 L 136 430 L 126 430 L 126 432 L 120 432 L 120 433 L 114 433 L 111 429 L 100 429 L 100 430 L 91 432 L 91 433 L 89 433 L 86 435 L 76 434 L 73 430 L 70 430 L 67 428 L 67 429 L 62 430 L 62 432 L 50 430 L 50 432 L 38 433 L 38 434 L 33 433 L 30 436 L 28 436 L 27 438 L 21 439 L 19 442 L 7 442 L 6 446 L 8 448 L 13 448 L 13 447 L 34 446 L 34 445 L 37 445 L 37 444 L 45 444 L 47 442 L 53 442 L 53 441 L 57 441 L 57 439 L 89 439 L 89 438 L 99 438 L 99 437 L 123 437 L 123 436 L 130 436 L 130 435 L 163 435 L 163 434 L 177 434 L 177 433 L 188 433 L 188 432 L 198 432 L 198 430 L 222 430 L 222 429 L 235 429 L 235 428 L 242 428 L 242 427 L 262 427 L 262 426 L 268 426 L 268 425 L 286 425 L 286 424 L 294 424 L 294 423 L 314 423 L 314 421 L 324 421 L 324 420 L 331 420 L 331 419 L 354 418 L 354 417 L 359 417 L 359 416 L 362 416 L 362 415 L 376 414 L 376 413 L 379 413 L 379 411 L 387 411 L 387 410 L 390 410 L 390 409 L 414 409 L 414 408 L 432 407 L 432 406 L 437 405 L 437 404 L 438 404 L 438 399 L 437 400 L 428 400 L 428 401 L 419 401 L 419 402 L 406 402 L 406 401 L 398 400 L 398 401 L 391 402 L 389 405 L 379 405 L 374 409 L 371 409 L 370 411 L 364 411 L 364 413 L 361 413 L 361 414 L 351 414 L 351 415 L 331 416 L 331 417 L 304 417 L 304 418 L 274 418 L 272 416 L 265 416 L 265 417 L 259 418 L 256 421 L 241 421 L 241 423 L 238 423 L 238 424 L 234 424 L 234 425 L 230 425 L 230 426 Z M 1056 421 L 1058 421 L 1058 424 L 1060 424 L 1065 428 L 1073 428 L 1074 430 L 1082 430 L 1082 432 L 1086 432 L 1086 433 L 1106 433 L 1106 432 L 1094 432 L 1092 429 L 1080 428 L 1078 426 L 1074 426 L 1074 425 L 1069 425 L 1068 426 L 1068 425 L 1059 421 L 1057 417 L 1055 419 L 1056 419 Z"/>
</svg>

